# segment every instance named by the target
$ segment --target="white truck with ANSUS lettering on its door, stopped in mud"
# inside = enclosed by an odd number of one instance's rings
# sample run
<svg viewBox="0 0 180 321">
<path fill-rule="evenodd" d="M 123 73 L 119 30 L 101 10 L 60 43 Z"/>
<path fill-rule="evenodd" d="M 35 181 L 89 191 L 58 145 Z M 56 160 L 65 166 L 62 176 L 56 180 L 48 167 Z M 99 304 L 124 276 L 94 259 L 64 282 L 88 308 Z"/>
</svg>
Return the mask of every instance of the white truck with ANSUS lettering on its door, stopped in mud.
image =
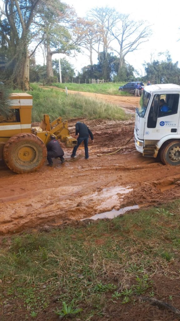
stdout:
<svg viewBox="0 0 180 321">
<path fill-rule="evenodd" d="M 136 150 L 164 164 L 180 165 L 180 86 L 145 86 L 135 111 Z"/>
</svg>

